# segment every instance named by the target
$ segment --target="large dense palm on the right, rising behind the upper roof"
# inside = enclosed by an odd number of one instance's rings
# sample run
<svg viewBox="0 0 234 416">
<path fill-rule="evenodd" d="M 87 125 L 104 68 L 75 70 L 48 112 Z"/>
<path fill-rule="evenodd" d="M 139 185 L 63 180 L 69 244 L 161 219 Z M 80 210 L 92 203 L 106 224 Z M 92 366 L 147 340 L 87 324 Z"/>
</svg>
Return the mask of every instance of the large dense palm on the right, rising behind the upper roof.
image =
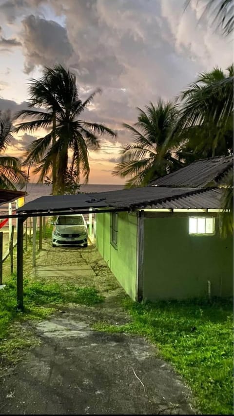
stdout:
<svg viewBox="0 0 234 416">
<path fill-rule="evenodd" d="M 233 154 L 233 65 L 227 71 L 203 72 L 181 93 L 182 108 L 167 145 L 177 148 L 185 163 Z"/>
</svg>

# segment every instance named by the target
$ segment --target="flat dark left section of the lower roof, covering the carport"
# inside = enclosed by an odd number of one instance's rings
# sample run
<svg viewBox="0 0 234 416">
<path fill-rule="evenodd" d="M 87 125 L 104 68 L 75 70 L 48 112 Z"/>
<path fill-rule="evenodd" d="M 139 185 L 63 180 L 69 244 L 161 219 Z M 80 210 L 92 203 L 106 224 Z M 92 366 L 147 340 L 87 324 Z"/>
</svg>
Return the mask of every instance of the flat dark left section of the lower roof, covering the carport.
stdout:
<svg viewBox="0 0 234 416">
<path fill-rule="evenodd" d="M 46 212 L 61 211 L 69 209 L 85 209 L 85 208 L 101 208 L 107 207 L 105 201 L 100 200 L 91 194 L 78 194 L 78 195 L 51 195 L 48 197 L 40 197 L 34 199 L 23 205 L 17 212 Z"/>
</svg>

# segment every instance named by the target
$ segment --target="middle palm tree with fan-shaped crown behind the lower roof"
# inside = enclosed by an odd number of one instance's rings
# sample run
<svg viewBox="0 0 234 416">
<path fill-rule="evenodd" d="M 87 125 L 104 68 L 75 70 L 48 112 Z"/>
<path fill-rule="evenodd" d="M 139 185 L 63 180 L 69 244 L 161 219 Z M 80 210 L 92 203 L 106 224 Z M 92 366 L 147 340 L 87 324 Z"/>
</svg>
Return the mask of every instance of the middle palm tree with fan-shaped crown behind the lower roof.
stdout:
<svg viewBox="0 0 234 416">
<path fill-rule="evenodd" d="M 158 157 L 176 123 L 175 104 L 159 99 L 156 106 L 151 102 L 146 111 L 138 110 L 137 123 L 123 124 L 131 132 L 134 143 L 123 147 L 120 162 L 113 171 L 114 176 L 131 176 L 125 184 L 127 188 L 145 186 L 182 166 L 169 149 L 163 152 L 162 158 Z"/>
</svg>

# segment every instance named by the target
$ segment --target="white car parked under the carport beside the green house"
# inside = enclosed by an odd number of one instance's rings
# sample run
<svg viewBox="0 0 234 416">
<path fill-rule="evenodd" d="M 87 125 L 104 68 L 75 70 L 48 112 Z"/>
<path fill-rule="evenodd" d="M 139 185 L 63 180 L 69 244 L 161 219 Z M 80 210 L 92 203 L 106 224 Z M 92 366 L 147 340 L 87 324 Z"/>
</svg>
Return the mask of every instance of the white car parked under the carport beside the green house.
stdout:
<svg viewBox="0 0 234 416">
<path fill-rule="evenodd" d="M 52 246 L 79 244 L 88 246 L 87 224 L 82 214 L 59 215 L 52 232 Z"/>
</svg>

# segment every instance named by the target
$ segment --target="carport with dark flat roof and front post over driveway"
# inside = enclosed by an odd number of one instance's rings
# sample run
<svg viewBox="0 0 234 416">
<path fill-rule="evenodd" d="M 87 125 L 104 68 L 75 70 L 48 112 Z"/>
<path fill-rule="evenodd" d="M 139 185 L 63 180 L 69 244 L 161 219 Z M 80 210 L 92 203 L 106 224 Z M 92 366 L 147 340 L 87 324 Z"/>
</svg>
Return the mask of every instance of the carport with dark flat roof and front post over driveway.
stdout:
<svg viewBox="0 0 234 416">
<path fill-rule="evenodd" d="M 103 212 L 128 211 L 129 208 L 116 209 L 98 198 L 98 194 L 58 195 L 40 197 L 26 203 L 17 214 L 4 218 L 17 218 L 17 304 L 23 310 L 23 224 L 29 217 L 48 217 L 71 214 L 98 214 Z M 0 218 L 3 218 L 0 216 Z"/>
</svg>

